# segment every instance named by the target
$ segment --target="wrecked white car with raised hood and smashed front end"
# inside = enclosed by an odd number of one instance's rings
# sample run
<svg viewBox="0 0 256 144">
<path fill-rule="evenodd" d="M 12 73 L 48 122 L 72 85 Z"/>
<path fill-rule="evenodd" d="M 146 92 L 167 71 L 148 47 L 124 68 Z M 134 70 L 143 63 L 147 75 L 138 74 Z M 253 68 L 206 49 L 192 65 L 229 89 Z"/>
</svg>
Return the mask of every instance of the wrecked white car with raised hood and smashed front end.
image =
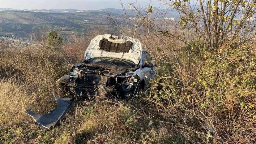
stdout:
<svg viewBox="0 0 256 144">
<path fill-rule="evenodd" d="M 139 39 L 105 34 L 92 39 L 85 60 L 57 82 L 85 99 L 95 95 L 132 99 L 156 74 L 157 66 Z"/>
</svg>

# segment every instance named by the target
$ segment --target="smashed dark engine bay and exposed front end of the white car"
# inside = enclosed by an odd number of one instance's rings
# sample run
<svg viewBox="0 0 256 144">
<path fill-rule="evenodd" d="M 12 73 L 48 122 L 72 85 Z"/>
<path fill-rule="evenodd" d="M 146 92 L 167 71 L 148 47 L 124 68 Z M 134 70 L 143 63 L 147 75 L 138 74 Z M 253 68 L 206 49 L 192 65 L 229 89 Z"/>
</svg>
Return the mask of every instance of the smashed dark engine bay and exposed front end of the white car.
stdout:
<svg viewBox="0 0 256 144">
<path fill-rule="evenodd" d="M 69 90 L 76 96 L 114 96 L 129 99 L 140 89 L 140 78 L 133 71 L 78 64 L 71 68 Z"/>
</svg>

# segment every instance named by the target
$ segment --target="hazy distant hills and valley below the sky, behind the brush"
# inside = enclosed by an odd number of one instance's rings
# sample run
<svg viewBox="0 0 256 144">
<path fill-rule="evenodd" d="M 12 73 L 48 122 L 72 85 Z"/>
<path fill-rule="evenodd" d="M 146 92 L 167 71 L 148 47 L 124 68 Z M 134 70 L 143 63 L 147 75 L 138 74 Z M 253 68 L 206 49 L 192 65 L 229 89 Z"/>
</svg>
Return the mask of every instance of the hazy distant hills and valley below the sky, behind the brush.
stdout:
<svg viewBox="0 0 256 144">
<path fill-rule="evenodd" d="M 166 19 L 179 17 L 179 14 L 173 9 L 154 9 L 155 12 L 166 13 Z M 126 10 L 131 17 L 137 15 L 133 9 Z M 26 38 L 32 31 L 36 31 L 40 27 L 60 31 L 64 36 L 70 35 L 72 31 L 86 35 L 97 27 L 103 26 L 110 29 L 107 12 L 116 18 L 122 18 L 124 14 L 123 9 L 115 8 L 85 11 L 78 9 L 16 10 L 0 8 L 0 35 Z M 141 13 L 143 14 L 144 11 L 141 10 Z"/>
</svg>

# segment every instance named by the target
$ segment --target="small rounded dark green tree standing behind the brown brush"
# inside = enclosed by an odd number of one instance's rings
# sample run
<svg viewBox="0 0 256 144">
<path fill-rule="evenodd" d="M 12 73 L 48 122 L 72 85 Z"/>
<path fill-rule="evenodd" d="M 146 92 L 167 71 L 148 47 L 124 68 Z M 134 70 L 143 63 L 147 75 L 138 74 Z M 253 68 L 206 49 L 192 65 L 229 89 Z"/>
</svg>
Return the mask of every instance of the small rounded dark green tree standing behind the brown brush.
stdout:
<svg viewBox="0 0 256 144">
<path fill-rule="evenodd" d="M 56 51 L 63 43 L 63 39 L 57 34 L 56 31 L 51 31 L 47 35 L 48 47 Z"/>
</svg>

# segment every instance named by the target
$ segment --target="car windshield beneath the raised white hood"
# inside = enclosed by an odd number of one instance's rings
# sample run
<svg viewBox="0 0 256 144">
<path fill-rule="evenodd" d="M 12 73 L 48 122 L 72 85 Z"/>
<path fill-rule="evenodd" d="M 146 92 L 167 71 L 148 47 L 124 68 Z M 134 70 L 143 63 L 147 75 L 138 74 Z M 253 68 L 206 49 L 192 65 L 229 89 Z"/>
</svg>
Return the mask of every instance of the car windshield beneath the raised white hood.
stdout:
<svg viewBox="0 0 256 144">
<path fill-rule="evenodd" d="M 115 66 L 120 68 L 136 68 L 136 64 L 129 60 L 110 57 L 94 57 L 86 60 L 87 64 Z"/>
</svg>

